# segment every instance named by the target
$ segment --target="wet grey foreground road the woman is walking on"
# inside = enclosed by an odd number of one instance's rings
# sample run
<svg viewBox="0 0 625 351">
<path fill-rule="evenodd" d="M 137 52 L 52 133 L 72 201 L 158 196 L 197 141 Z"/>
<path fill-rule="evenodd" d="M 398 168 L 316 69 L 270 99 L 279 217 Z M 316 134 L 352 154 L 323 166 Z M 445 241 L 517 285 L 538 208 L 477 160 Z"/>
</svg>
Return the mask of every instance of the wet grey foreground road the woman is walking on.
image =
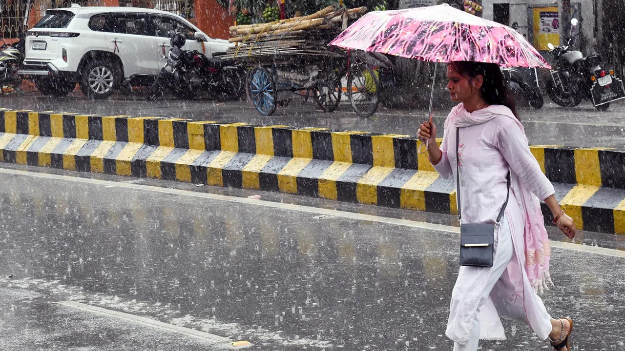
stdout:
<svg viewBox="0 0 625 351">
<path fill-rule="evenodd" d="M 63 300 L 258 350 L 451 350 L 457 234 L 141 183 L 2 169 L 0 184 L 2 350 L 210 350 Z M 625 349 L 625 255 L 577 249 L 553 249 L 547 309 L 575 319 L 574 350 Z M 550 349 L 504 325 L 482 350 Z"/>
</svg>

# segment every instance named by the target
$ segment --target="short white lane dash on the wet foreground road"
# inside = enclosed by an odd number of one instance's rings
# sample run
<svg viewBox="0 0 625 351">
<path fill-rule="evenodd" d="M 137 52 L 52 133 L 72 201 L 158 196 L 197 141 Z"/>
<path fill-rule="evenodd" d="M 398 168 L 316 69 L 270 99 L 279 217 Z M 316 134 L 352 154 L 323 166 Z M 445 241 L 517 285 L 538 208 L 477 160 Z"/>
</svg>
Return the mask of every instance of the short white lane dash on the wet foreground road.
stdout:
<svg viewBox="0 0 625 351">
<path fill-rule="evenodd" d="M 118 312 L 118 311 L 109 310 L 109 309 L 103 309 L 102 307 L 98 307 L 98 306 L 81 304 L 80 302 L 76 302 L 76 301 L 61 301 L 61 302 L 55 302 L 55 303 L 59 305 L 67 306 L 67 307 L 72 307 L 73 309 L 84 310 L 84 311 L 91 312 L 94 314 L 106 315 L 108 317 L 128 320 L 129 322 L 147 325 L 148 327 L 168 330 L 169 332 L 183 334 L 189 337 L 194 337 L 194 338 L 201 339 L 204 341 L 214 342 L 217 344 L 227 343 L 229 345 L 231 342 L 233 342 L 233 340 L 220 337 L 219 335 L 209 334 L 209 333 L 201 332 L 195 329 L 180 327 L 179 325 L 167 324 L 167 323 L 160 322 L 158 320 L 149 319 L 149 318 L 141 317 L 138 315 L 127 314 L 124 312 Z"/>
</svg>

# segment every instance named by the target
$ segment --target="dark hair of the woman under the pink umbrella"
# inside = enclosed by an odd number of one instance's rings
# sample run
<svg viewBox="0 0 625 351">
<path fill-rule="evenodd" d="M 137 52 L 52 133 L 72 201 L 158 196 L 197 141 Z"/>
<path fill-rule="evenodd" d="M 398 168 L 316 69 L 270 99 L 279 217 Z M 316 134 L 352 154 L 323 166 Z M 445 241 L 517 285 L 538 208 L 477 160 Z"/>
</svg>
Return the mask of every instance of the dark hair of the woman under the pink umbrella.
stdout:
<svg viewBox="0 0 625 351">
<path fill-rule="evenodd" d="M 516 112 L 516 102 L 514 96 L 507 86 L 506 79 L 497 64 L 472 62 L 472 61 L 455 61 L 450 63 L 456 72 L 465 77 L 469 82 L 477 76 L 484 77 L 484 82 L 480 89 L 482 99 L 489 105 L 504 105 L 511 109 L 514 117 L 519 119 Z"/>
</svg>

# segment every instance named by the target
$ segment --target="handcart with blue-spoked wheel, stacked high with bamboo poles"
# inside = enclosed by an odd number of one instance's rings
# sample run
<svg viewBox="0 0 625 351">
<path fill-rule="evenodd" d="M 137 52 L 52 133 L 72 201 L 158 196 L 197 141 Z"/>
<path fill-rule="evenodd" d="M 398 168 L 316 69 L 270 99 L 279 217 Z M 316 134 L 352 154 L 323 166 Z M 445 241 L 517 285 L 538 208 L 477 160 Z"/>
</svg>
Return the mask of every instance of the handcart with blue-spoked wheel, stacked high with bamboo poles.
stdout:
<svg viewBox="0 0 625 351">
<path fill-rule="evenodd" d="M 329 6 L 311 16 L 231 27 L 230 41 L 239 44 L 228 54 L 249 67 L 247 97 L 257 111 L 271 116 L 299 95 L 332 112 L 346 93 L 359 116 L 371 116 L 378 104 L 376 72 L 352 52 L 327 46 L 342 30 L 337 23 L 364 12 Z"/>
</svg>

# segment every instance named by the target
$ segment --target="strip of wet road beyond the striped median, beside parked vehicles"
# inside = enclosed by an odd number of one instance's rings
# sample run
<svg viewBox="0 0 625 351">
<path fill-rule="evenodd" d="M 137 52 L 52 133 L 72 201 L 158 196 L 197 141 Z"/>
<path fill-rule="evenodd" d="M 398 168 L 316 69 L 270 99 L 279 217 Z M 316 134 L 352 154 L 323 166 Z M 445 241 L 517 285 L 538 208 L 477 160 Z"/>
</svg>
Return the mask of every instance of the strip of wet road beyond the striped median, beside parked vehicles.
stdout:
<svg viewBox="0 0 625 351">
<path fill-rule="evenodd" d="M 625 149 L 625 102 L 614 102 L 607 112 L 596 111 L 589 104 L 563 109 L 545 97 L 540 110 L 521 107 L 519 114 L 526 128 L 530 144 L 574 147 L 616 147 Z M 261 125 L 295 127 L 324 127 L 330 129 L 377 132 L 384 134 L 416 134 L 416 129 L 427 114 L 427 105 L 419 102 L 417 109 L 389 109 L 379 111 L 369 119 L 358 117 L 351 106 L 339 111 L 317 111 L 312 101 L 304 103 L 297 97 L 286 108 L 279 108 L 274 116 L 261 116 L 246 101 L 214 101 L 199 97 L 194 101 L 159 99 L 148 102 L 141 93 L 132 96 L 113 96 L 108 101 L 90 101 L 73 92 L 68 97 L 9 95 L 0 97 L 0 107 L 31 109 L 34 111 L 79 112 L 102 115 L 179 117 L 203 121 L 246 122 Z M 437 97 L 434 104 L 437 126 L 453 106 L 447 97 Z M 442 131 L 442 128 L 441 128 Z M 442 133 L 442 132 L 441 132 Z"/>
</svg>

